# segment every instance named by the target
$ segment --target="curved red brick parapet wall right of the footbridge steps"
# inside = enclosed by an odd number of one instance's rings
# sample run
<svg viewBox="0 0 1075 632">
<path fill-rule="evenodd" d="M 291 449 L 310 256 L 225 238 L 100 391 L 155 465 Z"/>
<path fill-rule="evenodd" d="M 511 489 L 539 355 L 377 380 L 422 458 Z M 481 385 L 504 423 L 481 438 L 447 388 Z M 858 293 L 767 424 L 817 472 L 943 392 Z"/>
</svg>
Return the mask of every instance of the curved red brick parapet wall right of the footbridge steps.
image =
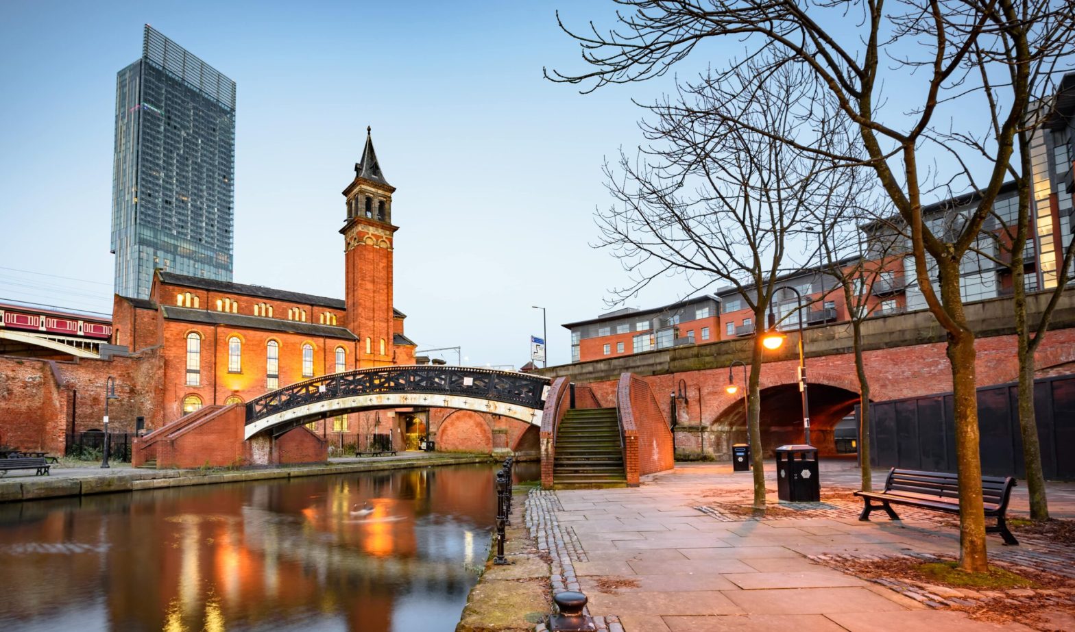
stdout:
<svg viewBox="0 0 1075 632">
<path fill-rule="evenodd" d="M 645 380 L 624 373 L 617 386 L 628 486 L 639 477 L 675 467 L 672 430 Z"/>
</svg>

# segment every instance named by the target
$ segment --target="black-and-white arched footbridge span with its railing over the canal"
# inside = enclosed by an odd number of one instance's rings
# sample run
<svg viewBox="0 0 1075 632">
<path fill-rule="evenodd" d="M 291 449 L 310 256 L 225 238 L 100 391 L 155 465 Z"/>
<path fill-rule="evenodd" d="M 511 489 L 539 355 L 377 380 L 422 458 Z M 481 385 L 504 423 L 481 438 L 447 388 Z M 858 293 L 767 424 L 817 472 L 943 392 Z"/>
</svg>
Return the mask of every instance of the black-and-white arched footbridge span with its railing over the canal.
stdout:
<svg viewBox="0 0 1075 632">
<path fill-rule="evenodd" d="M 280 436 L 313 420 L 421 406 L 498 414 L 536 426 L 549 380 L 515 371 L 408 365 L 357 369 L 305 380 L 246 405 L 244 439 Z"/>
</svg>

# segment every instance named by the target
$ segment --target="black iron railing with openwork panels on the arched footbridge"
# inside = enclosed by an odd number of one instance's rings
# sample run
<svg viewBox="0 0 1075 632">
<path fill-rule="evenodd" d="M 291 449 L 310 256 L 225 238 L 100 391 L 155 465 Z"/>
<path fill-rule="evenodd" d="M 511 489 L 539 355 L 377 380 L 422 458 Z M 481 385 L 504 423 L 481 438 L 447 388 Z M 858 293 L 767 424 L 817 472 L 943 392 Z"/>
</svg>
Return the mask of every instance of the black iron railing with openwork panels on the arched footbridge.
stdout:
<svg viewBox="0 0 1075 632">
<path fill-rule="evenodd" d="M 246 423 L 307 403 L 377 394 L 472 396 L 540 410 L 549 382 L 530 373 L 443 365 L 357 369 L 297 382 L 253 399 L 246 405 Z"/>
</svg>

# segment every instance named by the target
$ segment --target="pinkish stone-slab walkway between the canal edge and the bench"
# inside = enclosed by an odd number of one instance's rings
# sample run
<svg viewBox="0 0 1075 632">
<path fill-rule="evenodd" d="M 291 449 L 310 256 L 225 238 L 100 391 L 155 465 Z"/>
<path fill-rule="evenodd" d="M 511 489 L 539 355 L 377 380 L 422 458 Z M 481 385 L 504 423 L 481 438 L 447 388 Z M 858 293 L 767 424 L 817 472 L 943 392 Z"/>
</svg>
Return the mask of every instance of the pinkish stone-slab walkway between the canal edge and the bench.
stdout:
<svg viewBox="0 0 1075 632">
<path fill-rule="evenodd" d="M 857 488 L 855 467 L 823 464 L 823 485 Z M 878 472 L 877 486 L 883 475 Z M 773 476 L 768 480 L 775 488 Z M 732 473 L 728 466 L 678 465 L 644 477 L 636 489 L 557 491 L 559 508 L 553 513 L 557 537 L 567 545 L 561 555 L 568 568 L 562 577 L 554 575 L 554 585 L 560 578 L 571 588 L 577 577 L 589 597 L 589 612 L 618 616 L 627 632 L 1028 630 L 933 609 L 807 557 L 958 554 L 958 532 L 935 521 L 892 523 L 882 516 L 860 523 L 846 514 L 725 521 L 696 509 L 714 498 L 748 493 L 750 485 L 749 473 Z M 1017 508 L 1024 499 L 1023 490 Z M 1050 500 L 1058 516 L 1075 515 L 1075 485 L 1054 485 Z M 577 550 L 571 545 L 575 542 Z M 1001 549 L 1000 538 L 989 537 L 989 546 Z"/>
</svg>

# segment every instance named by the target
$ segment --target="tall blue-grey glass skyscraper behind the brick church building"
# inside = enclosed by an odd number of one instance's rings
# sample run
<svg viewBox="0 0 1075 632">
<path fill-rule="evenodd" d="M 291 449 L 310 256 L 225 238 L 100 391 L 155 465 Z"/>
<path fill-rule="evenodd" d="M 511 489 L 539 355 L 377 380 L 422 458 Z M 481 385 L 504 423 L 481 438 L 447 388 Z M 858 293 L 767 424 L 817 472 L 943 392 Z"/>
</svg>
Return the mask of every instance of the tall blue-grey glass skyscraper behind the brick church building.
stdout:
<svg viewBox="0 0 1075 632">
<path fill-rule="evenodd" d="M 235 83 L 149 25 L 116 75 L 116 294 L 148 298 L 154 268 L 231 280 Z"/>
</svg>

